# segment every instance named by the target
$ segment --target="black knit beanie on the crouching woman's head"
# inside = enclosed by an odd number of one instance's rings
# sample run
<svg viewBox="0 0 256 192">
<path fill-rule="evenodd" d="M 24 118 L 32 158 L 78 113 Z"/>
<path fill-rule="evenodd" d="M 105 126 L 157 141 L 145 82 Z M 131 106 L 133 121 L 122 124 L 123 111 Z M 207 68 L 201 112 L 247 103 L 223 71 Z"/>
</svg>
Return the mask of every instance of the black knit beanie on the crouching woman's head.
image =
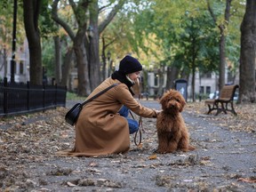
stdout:
<svg viewBox="0 0 256 192">
<path fill-rule="evenodd" d="M 124 59 L 120 61 L 118 69 L 118 71 L 123 74 L 131 74 L 140 70 L 142 70 L 142 66 L 139 60 L 130 55 L 126 55 Z"/>
</svg>

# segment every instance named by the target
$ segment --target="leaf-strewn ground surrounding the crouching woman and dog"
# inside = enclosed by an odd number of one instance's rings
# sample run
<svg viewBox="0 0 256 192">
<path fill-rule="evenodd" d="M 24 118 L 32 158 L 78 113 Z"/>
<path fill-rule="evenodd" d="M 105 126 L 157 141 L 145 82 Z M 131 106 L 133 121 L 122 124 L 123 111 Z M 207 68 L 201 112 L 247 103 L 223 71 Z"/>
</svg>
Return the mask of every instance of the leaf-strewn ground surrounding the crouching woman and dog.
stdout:
<svg viewBox="0 0 256 192">
<path fill-rule="evenodd" d="M 73 103 L 67 102 L 72 107 Z M 157 101 L 140 103 L 159 109 Z M 63 157 L 72 148 L 74 128 L 64 122 L 67 108 L 46 121 L 0 129 L 0 191 L 245 191 L 256 189 L 255 132 L 232 132 L 215 116 L 182 113 L 196 150 L 155 153 L 156 119 L 143 118 L 142 145 L 125 155 Z M 224 116 L 230 118 L 229 116 Z M 227 122 L 228 123 L 228 122 Z"/>
</svg>

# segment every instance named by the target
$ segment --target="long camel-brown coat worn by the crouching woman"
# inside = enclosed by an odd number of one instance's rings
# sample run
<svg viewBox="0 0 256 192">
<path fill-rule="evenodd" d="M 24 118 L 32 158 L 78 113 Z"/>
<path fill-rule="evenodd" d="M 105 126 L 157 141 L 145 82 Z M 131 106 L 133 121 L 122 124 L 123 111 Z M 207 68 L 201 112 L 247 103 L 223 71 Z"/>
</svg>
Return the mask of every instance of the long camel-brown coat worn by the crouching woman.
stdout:
<svg viewBox="0 0 256 192">
<path fill-rule="evenodd" d="M 120 82 L 109 77 L 87 99 L 116 83 Z M 123 105 L 138 116 L 156 117 L 154 109 L 141 106 L 125 84 L 118 84 L 84 106 L 75 126 L 75 148 L 66 155 L 100 156 L 127 152 L 130 148 L 129 126 L 127 120 L 117 114 Z"/>
</svg>

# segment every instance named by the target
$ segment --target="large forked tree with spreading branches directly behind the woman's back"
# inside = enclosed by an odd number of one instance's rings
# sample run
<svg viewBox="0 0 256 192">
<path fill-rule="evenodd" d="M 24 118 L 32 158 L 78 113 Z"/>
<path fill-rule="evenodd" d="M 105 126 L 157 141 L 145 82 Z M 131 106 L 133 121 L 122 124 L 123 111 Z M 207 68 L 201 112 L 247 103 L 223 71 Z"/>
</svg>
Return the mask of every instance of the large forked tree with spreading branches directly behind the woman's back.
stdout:
<svg viewBox="0 0 256 192">
<path fill-rule="evenodd" d="M 69 0 L 68 3 L 76 16 L 76 35 L 68 23 L 58 15 L 58 3 L 55 0 L 52 4 L 52 19 L 64 28 L 73 41 L 73 48 L 76 54 L 78 72 L 78 94 L 89 95 L 91 90 L 100 84 L 100 56 L 99 38 L 100 33 L 108 26 L 115 17 L 116 12 L 121 9 L 125 0 L 118 1 L 108 16 L 99 23 L 99 1 Z M 109 3 L 110 5 L 113 4 Z M 108 5 L 109 5 L 108 4 Z M 89 12 L 89 15 L 88 15 Z M 89 26 L 87 25 L 89 23 Z M 88 31 L 90 29 L 91 31 Z M 90 32 L 89 36 L 86 33 Z"/>
</svg>

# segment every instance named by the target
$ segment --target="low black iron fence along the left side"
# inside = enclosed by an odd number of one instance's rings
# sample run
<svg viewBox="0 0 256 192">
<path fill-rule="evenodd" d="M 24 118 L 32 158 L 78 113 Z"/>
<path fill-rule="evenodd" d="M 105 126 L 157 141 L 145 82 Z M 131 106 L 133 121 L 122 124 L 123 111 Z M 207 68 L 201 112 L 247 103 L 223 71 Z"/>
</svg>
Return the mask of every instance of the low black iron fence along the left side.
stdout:
<svg viewBox="0 0 256 192">
<path fill-rule="evenodd" d="M 65 107 L 66 87 L 0 82 L 0 116 Z"/>
</svg>

